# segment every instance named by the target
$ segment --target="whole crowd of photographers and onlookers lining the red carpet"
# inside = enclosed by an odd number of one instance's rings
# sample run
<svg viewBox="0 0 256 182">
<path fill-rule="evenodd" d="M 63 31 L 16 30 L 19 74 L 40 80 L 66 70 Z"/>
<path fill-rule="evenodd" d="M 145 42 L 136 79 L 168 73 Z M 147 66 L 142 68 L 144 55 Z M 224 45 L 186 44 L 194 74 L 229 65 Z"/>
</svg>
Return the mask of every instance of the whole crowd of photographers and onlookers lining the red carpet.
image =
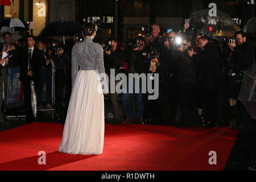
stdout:
<svg viewBox="0 0 256 182">
<path fill-rule="evenodd" d="M 6 64 L 20 67 L 27 122 L 35 121 L 31 108 L 30 80 L 36 83 L 39 108 L 53 109 L 52 70 L 55 71 L 55 121 L 65 122 L 72 90 L 72 47 L 81 41 L 79 36 L 74 37 L 72 44 L 53 45 L 30 34 L 26 39 L 26 48 L 23 48 L 22 43 L 12 43 L 10 32 L 3 34 L 3 38 L 5 43 L 0 45 L 2 54 L 18 50 Z M 142 81 L 139 78 L 134 78 L 131 83 L 135 84 L 135 81 L 139 80 L 139 93 L 122 93 L 122 105 L 118 102 L 117 92 L 105 96 L 110 98 L 113 107 L 113 123 L 216 127 L 220 102 L 218 94 L 221 90 L 226 90 L 230 104 L 230 120 L 238 121 L 235 126 L 243 130 L 255 128 L 255 121 L 237 102 L 243 71 L 254 64 L 254 42 L 247 39 L 242 31 L 236 32 L 234 38 L 236 42 L 230 44 L 216 42 L 196 31 L 191 31 L 186 24 L 183 32 L 170 31 L 167 34 L 154 23 L 143 37 L 138 36 L 135 40 L 117 42 L 110 38 L 102 42 L 104 66 L 109 78 L 115 76 L 110 74 L 110 69 L 115 69 L 115 74 L 125 73 L 127 76 L 129 73 L 149 73 L 152 80 L 156 73 L 159 74 L 159 97 L 156 100 L 148 100 L 149 93 L 142 93 Z M 1 63 L 2 61 L 4 60 L 1 60 Z M 224 66 L 228 71 L 224 71 Z M 44 84 L 46 107 L 42 102 Z M 115 85 L 117 84 L 118 81 L 115 81 Z M 133 95 L 136 105 L 131 108 L 130 100 Z M 133 110 L 136 111 L 136 121 L 133 120 Z M 166 110 L 168 116 L 164 117 Z M 241 110 L 241 117 L 237 114 L 238 110 Z M 181 114 L 179 121 L 178 113 Z M 0 119 L 3 120 L 3 117 Z M 105 119 L 105 122 L 108 123 L 108 119 Z"/>
</svg>

